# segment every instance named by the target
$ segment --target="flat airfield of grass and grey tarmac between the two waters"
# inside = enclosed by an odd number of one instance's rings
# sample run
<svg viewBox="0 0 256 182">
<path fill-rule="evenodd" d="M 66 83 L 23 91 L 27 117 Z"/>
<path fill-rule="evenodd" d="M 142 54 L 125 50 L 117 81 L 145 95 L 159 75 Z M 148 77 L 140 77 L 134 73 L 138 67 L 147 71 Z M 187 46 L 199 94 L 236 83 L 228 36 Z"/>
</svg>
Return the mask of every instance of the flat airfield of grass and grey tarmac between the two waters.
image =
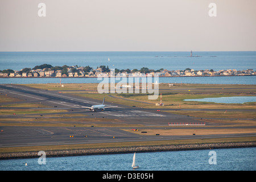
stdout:
<svg viewBox="0 0 256 182">
<path fill-rule="evenodd" d="M 161 97 L 148 100 L 147 93 L 99 94 L 97 84 L 1 84 L 0 155 L 185 144 L 255 146 L 255 102 L 184 101 L 255 96 L 255 90 L 255 85 L 159 84 Z M 104 97 L 106 106 L 115 107 L 86 109 Z"/>
</svg>

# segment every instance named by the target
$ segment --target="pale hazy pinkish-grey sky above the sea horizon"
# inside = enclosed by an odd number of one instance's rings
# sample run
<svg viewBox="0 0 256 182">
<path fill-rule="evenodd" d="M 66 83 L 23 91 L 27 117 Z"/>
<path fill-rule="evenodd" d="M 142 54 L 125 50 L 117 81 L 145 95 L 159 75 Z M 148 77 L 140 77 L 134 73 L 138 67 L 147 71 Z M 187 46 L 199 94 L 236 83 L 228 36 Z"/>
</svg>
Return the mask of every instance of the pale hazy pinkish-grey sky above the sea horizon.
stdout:
<svg viewBox="0 0 256 182">
<path fill-rule="evenodd" d="M 255 7 L 255 0 L 0 0 L 0 51 L 256 51 Z"/>
</svg>

